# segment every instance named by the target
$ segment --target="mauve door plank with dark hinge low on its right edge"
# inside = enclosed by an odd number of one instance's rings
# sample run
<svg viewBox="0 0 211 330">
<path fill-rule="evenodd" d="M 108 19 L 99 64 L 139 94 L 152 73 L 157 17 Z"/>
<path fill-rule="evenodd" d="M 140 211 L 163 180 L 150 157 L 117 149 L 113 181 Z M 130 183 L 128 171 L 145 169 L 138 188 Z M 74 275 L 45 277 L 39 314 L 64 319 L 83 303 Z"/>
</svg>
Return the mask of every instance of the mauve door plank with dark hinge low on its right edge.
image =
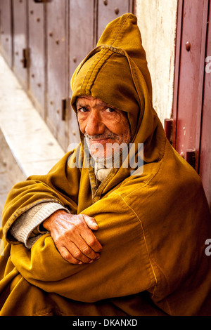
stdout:
<svg viewBox="0 0 211 330">
<path fill-rule="evenodd" d="M 68 96 L 68 1 L 46 3 L 47 114 L 46 122 L 66 150 L 68 127 L 65 121 Z"/>
</svg>

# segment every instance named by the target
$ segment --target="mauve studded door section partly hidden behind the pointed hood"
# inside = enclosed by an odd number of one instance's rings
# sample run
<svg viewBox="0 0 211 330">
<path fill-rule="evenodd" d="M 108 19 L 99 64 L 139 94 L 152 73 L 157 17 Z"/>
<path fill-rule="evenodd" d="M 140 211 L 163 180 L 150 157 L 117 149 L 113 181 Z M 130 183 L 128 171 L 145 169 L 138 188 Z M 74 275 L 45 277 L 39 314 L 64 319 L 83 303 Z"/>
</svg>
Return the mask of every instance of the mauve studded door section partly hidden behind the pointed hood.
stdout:
<svg viewBox="0 0 211 330">
<path fill-rule="evenodd" d="M 96 46 L 106 25 L 132 12 L 133 4 L 132 0 L 70 0 L 70 78 L 79 62 Z M 68 112 L 68 124 L 69 143 L 78 143 L 79 129 L 73 110 Z"/>
</svg>

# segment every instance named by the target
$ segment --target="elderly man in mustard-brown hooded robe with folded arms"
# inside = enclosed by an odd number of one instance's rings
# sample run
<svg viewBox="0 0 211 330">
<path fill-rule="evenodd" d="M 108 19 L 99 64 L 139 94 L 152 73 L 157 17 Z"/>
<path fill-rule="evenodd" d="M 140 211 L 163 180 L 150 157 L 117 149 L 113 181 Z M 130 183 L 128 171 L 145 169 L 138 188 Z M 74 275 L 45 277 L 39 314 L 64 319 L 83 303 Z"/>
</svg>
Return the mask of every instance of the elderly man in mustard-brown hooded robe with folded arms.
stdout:
<svg viewBox="0 0 211 330">
<path fill-rule="evenodd" d="M 134 15 L 71 86 L 81 143 L 4 207 L 0 315 L 211 315 L 210 210 L 153 110 Z"/>
</svg>

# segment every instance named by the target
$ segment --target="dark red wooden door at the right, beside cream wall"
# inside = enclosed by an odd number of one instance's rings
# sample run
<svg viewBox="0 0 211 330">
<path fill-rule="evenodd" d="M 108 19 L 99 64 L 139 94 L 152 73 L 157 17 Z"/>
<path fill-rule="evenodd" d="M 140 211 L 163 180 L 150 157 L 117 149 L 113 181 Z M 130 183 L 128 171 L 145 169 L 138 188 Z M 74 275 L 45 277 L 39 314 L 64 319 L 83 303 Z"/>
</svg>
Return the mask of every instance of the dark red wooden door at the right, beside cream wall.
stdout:
<svg viewBox="0 0 211 330">
<path fill-rule="evenodd" d="M 209 7 L 210 0 L 179 0 L 173 146 L 200 174 L 211 206 Z"/>
</svg>

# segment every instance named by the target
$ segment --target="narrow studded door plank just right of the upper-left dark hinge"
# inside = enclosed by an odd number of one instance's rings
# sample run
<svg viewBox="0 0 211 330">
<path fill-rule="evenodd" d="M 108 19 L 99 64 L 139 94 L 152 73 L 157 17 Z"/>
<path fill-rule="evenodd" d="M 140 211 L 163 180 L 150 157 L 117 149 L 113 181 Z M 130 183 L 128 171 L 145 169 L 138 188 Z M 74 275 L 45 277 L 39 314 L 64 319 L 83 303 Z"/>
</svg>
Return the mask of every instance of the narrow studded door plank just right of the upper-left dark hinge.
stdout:
<svg viewBox="0 0 211 330">
<path fill-rule="evenodd" d="M 29 0 L 29 93 L 41 117 L 45 117 L 46 107 L 46 52 L 44 3 Z"/>
</svg>

